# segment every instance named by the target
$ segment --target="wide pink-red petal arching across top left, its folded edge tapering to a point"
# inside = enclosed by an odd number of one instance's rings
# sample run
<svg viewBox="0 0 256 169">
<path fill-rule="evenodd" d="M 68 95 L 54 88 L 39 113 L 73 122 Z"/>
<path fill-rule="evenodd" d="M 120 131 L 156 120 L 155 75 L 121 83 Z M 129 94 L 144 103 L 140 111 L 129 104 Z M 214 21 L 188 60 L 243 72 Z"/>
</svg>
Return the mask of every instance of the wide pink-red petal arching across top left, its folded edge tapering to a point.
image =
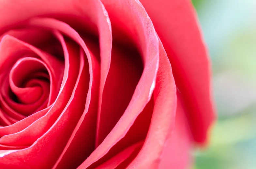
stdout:
<svg viewBox="0 0 256 169">
<path fill-rule="evenodd" d="M 19 7 L 13 6 L 12 4 L 16 4 Z M 6 10 L 10 7 L 12 8 L 12 12 Z M 36 8 L 37 10 L 34 10 Z M 23 22 L 32 16 L 35 17 L 42 15 L 65 20 L 67 21 L 66 23 L 72 24 L 74 27 L 80 28 L 83 31 L 87 28 L 89 30 L 93 30 L 91 27 L 96 25 L 99 32 L 101 57 L 101 74 L 99 86 L 99 107 L 101 107 L 100 105 L 103 87 L 107 78 L 111 61 L 112 31 L 108 13 L 99 0 L 65 0 L 62 2 L 62 5 L 59 5 L 58 0 L 49 2 L 44 0 L 38 0 L 37 2 L 24 1 L 23 3 L 13 0 L 11 3 L 1 2 L 0 11 L 8 16 L 5 18 L 0 18 L 0 32 L 1 29 L 2 31 L 5 31 L 11 25 L 14 25 L 18 22 Z M 17 16 L 16 14 L 13 15 L 14 13 L 22 13 L 23 15 Z M 47 25 L 44 26 L 47 27 Z M 74 40 L 76 41 L 76 38 Z M 81 42 L 78 43 L 81 44 Z"/>
</svg>

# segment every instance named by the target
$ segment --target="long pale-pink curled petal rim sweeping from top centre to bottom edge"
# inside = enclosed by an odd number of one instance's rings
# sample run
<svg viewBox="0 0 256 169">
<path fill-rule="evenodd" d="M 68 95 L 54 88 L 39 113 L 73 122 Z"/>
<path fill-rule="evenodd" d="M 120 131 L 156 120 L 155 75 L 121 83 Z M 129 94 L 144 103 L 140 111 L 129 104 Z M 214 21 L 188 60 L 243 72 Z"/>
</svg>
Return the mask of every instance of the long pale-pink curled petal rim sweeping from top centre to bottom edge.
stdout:
<svg viewBox="0 0 256 169">
<path fill-rule="evenodd" d="M 104 141 L 78 168 L 86 168 L 98 161 L 126 135 L 137 116 L 143 111 L 143 108 L 151 98 L 158 69 L 158 39 L 142 5 L 137 1 L 109 0 L 103 1 L 103 4 L 109 12 L 110 19 L 117 17 L 113 20 L 111 19 L 112 24 L 116 24 L 116 22 L 121 24 L 124 22 L 127 23 L 126 26 L 131 31 L 131 36 L 139 39 L 138 45 L 142 52 L 144 70 L 131 101 L 118 123 Z M 119 15 L 120 13 L 122 15 Z"/>
</svg>

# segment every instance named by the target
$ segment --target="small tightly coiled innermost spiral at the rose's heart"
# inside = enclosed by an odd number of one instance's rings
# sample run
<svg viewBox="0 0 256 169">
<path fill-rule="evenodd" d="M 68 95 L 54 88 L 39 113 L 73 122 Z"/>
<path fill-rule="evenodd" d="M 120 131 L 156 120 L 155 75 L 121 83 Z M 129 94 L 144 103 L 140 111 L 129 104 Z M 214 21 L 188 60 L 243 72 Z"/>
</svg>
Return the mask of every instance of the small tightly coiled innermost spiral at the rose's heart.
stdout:
<svg viewBox="0 0 256 169">
<path fill-rule="evenodd" d="M 9 74 L 9 83 L 17 103 L 33 104 L 49 97 L 49 74 L 39 59 L 18 60 Z"/>
</svg>

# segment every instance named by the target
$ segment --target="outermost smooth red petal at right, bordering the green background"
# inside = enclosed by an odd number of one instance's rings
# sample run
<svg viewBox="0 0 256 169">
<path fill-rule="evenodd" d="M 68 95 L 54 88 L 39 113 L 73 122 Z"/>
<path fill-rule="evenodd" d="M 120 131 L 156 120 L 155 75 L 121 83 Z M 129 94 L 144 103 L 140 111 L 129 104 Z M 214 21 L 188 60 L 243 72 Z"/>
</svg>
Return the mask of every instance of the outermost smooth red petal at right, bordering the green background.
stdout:
<svg viewBox="0 0 256 169">
<path fill-rule="evenodd" d="M 206 141 L 214 120 L 210 95 L 210 65 L 188 0 L 141 0 L 171 62 L 173 76 L 186 103 L 187 118 L 196 142 Z"/>
</svg>

